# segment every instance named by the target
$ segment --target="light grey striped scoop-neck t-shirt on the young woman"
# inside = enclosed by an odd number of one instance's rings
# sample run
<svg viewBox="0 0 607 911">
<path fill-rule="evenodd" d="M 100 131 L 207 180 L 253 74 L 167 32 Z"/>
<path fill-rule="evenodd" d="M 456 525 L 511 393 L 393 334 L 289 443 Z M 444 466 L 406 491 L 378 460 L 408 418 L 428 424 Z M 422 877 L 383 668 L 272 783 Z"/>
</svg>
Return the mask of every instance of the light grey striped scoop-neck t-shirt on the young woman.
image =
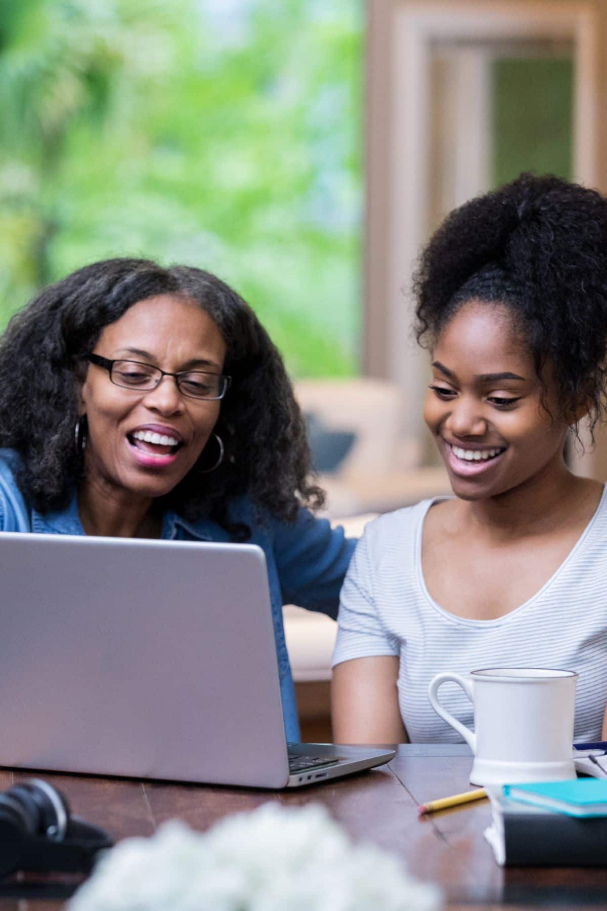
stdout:
<svg viewBox="0 0 607 911">
<path fill-rule="evenodd" d="M 438 497 L 437 499 L 439 499 Z M 430 597 L 421 572 L 421 530 L 435 500 L 371 522 L 341 589 L 333 666 L 353 658 L 400 658 L 399 704 L 411 742 L 461 742 L 430 706 L 428 685 L 441 670 L 491 667 L 576 670 L 575 739 L 601 739 L 607 704 L 607 496 L 569 556 L 520 608 L 493 620 L 456 617 Z M 444 683 L 440 701 L 473 727 L 460 687 Z"/>
</svg>

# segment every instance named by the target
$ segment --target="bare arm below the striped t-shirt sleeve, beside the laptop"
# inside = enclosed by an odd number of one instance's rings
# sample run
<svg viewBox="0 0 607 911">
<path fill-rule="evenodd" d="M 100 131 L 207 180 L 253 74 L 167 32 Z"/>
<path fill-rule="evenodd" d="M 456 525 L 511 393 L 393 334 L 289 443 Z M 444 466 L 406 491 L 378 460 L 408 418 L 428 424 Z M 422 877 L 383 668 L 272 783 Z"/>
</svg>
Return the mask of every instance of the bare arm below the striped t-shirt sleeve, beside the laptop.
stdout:
<svg viewBox="0 0 607 911">
<path fill-rule="evenodd" d="M 402 743 L 399 659 L 392 655 L 355 658 L 333 668 L 331 713 L 337 743 Z"/>
</svg>

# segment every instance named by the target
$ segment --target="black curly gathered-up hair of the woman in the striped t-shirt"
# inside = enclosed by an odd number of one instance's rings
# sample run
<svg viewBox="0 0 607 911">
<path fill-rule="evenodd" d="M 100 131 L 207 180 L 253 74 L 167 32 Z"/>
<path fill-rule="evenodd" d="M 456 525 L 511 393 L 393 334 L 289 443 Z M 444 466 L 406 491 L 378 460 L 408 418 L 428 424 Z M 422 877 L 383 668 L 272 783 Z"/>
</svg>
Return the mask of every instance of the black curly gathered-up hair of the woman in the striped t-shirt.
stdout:
<svg viewBox="0 0 607 911">
<path fill-rule="evenodd" d="M 414 277 L 416 334 L 433 347 L 462 303 L 506 304 L 543 388 L 551 363 L 561 414 L 604 416 L 607 200 L 556 177 L 521 177 L 450 213 Z"/>
</svg>

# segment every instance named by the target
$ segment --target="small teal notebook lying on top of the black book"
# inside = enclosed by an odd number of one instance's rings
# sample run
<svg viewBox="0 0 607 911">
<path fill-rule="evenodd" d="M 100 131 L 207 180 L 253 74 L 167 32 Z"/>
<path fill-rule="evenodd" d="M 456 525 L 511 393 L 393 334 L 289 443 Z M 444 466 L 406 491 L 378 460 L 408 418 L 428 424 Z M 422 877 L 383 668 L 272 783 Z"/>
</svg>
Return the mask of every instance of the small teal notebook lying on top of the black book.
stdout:
<svg viewBox="0 0 607 911">
<path fill-rule="evenodd" d="M 607 779 L 573 778 L 567 782 L 504 784 L 503 793 L 521 804 L 534 804 L 570 816 L 607 816 Z"/>
</svg>

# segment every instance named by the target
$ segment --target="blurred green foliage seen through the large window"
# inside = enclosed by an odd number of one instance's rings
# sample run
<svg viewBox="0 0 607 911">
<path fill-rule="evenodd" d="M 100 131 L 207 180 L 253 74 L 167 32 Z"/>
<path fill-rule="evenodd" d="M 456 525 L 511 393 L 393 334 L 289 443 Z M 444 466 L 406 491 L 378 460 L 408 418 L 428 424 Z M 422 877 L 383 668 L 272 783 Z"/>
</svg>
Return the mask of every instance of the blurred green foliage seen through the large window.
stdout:
<svg viewBox="0 0 607 911">
<path fill-rule="evenodd" d="M 0 0 L 0 323 L 86 262 L 216 271 L 358 369 L 359 0 Z"/>
</svg>

